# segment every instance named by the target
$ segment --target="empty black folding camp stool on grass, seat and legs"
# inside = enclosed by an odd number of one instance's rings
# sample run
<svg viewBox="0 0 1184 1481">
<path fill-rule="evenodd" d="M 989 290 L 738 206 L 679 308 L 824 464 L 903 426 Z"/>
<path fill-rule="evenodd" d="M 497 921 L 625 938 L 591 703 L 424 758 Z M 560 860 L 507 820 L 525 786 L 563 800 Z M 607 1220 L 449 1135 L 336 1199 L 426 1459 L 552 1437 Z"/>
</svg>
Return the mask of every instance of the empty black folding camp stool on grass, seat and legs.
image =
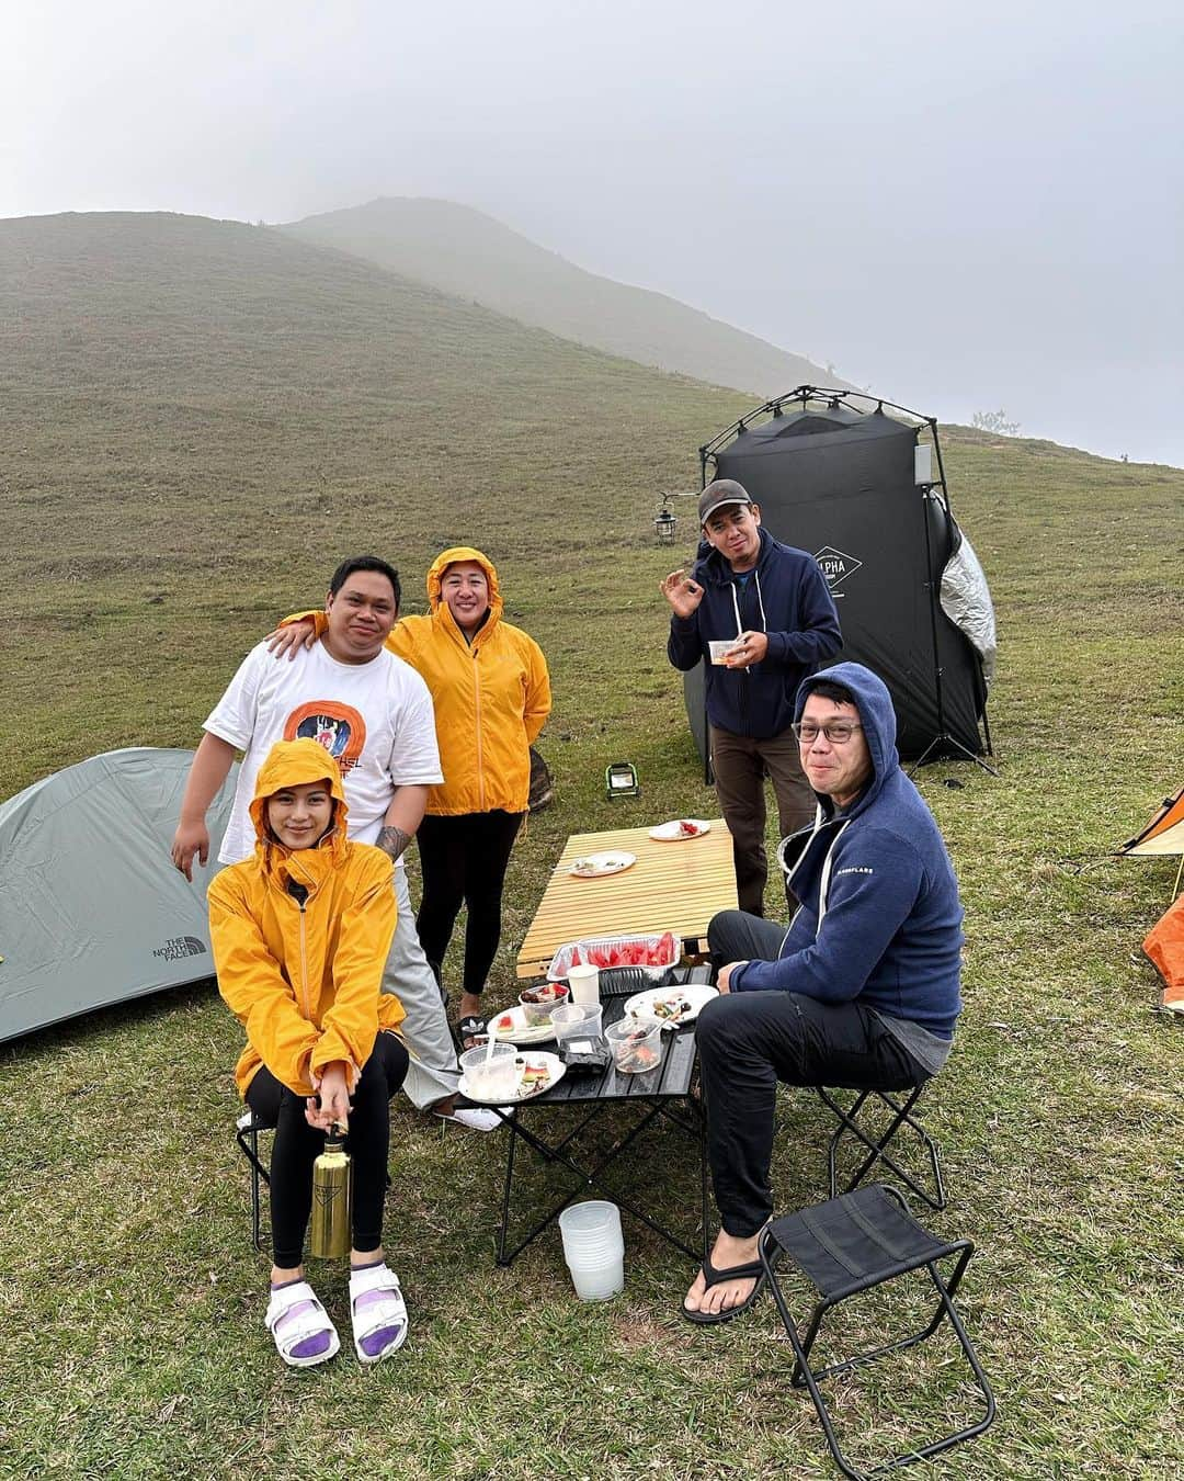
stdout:
<svg viewBox="0 0 1184 1481">
<path fill-rule="evenodd" d="M 935 1238 L 916 1222 L 895 1189 L 887 1188 L 884 1183 L 866 1183 L 839 1198 L 830 1198 L 827 1203 L 774 1219 L 761 1231 L 759 1254 L 765 1278 L 777 1302 L 777 1312 L 793 1345 L 795 1361 L 790 1383 L 793 1388 L 810 1391 L 830 1454 L 844 1475 L 852 1477 L 854 1481 L 866 1481 L 866 1477 L 910 1465 L 913 1460 L 924 1460 L 963 1440 L 981 1435 L 992 1423 L 995 1395 L 971 1339 L 953 1308 L 953 1296 L 974 1254 L 974 1244 L 969 1240 L 944 1243 Z M 947 1257 L 955 1257 L 955 1265 L 949 1278 L 943 1278 L 938 1262 Z M 799 1334 L 781 1290 L 778 1266 L 783 1260 L 796 1266 L 818 1293 L 805 1336 Z M 928 1272 L 938 1297 L 937 1311 L 926 1327 L 909 1337 L 900 1337 L 841 1363 L 832 1363 L 817 1371 L 811 1368 L 810 1354 L 823 1318 L 832 1306 L 922 1268 Z M 835 1435 L 835 1426 L 818 1386 L 820 1382 L 836 1373 L 847 1373 L 873 1363 L 889 1352 L 903 1352 L 906 1348 L 925 1342 L 937 1331 L 943 1320 L 949 1321 L 953 1328 L 974 1374 L 975 1386 L 983 1400 L 981 1417 L 965 1429 L 953 1431 L 940 1440 L 882 1460 L 867 1471 L 857 1471 Z"/>
</svg>

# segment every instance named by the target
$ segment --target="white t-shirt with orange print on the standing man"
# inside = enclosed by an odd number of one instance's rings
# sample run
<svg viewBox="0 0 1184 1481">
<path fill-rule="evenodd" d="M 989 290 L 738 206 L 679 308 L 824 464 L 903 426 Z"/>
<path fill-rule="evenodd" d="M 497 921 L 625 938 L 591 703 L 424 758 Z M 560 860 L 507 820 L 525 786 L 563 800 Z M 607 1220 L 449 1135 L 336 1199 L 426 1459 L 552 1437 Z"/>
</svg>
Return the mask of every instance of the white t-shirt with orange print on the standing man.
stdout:
<svg viewBox="0 0 1184 1481">
<path fill-rule="evenodd" d="M 360 843 L 377 838 L 397 786 L 444 780 L 428 686 L 386 649 L 369 663 L 339 663 L 324 643 L 315 643 L 289 663 L 260 643 L 243 659 L 204 729 L 246 751 L 218 855 L 222 863 L 255 852 L 249 807 L 259 767 L 277 740 L 309 736 L 334 757 L 349 804 L 349 837 Z"/>
</svg>

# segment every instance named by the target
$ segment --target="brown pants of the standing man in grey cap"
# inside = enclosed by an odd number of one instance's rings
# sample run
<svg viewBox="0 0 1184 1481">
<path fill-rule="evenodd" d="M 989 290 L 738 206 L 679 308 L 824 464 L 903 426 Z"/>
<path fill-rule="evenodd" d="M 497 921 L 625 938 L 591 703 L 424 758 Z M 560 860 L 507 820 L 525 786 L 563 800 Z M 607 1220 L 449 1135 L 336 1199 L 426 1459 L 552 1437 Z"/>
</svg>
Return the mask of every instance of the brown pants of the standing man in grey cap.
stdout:
<svg viewBox="0 0 1184 1481">
<path fill-rule="evenodd" d="M 781 837 L 814 822 L 817 798 L 802 772 L 798 740 L 784 730 L 768 740 L 750 740 L 715 726 L 710 732 L 715 792 L 731 832 L 736 892 L 740 909 L 765 914 L 765 773 L 777 798 Z"/>
</svg>

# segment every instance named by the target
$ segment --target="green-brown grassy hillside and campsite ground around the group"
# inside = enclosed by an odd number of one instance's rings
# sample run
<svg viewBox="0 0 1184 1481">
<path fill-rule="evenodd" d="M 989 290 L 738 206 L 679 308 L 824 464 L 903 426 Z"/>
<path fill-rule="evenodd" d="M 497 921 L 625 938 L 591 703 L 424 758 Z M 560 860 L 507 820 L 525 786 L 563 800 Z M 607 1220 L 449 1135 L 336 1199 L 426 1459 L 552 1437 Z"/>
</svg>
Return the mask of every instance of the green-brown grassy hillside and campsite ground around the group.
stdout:
<svg viewBox="0 0 1184 1481">
<path fill-rule="evenodd" d="M 568 832 L 712 807 L 650 521 L 747 398 L 280 233 L 130 215 L 0 222 L 0 795 L 101 749 L 191 743 L 243 652 L 342 552 L 394 555 L 414 604 L 428 558 L 472 539 L 556 695 L 558 801 L 515 852 L 494 1000 Z M 1184 474 L 944 447 L 998 604 L 1002 776 L 919 779 L 968 937 L 928 1109 L 950 1207 L 929 1222 L 978 1241 L 961 1305 L 1000 1420 L 934 1474 L 1184 1475 L 1183 1041 L 1138 954 L 1174 860 L 1107 857 L 1184 778 Z M 610 806 L 620 757 L 644 792 Z M 6 1474 L 835 1474 L 767 1299 L 691 1330 L 693 1271 L 629 1220 L 607 1306 L 573 1299 L 554 1231 L 496 1269 L 500 1145 L 403 1106 L 388 1247 L 410 1343 L 373 1373 L 283 1370 L 231 1143 L 237 1044 L 194 988 L 0 1047 Z M 780 1115 L 787 1208 L 823 1194 L 827 1127 L 802 1096 Z M 672 1220 L 688 1174 L 676 1140 L 636 1173 Z M 340 1274 L 317 1280 L 340 1308 Z M 929 1398 L 901 1404 L 891 1371 L 844 1383 L 848 1432 L 892 1444 L 956 1407 L 940 1357 L 915 1370 Z"/>
</svg>

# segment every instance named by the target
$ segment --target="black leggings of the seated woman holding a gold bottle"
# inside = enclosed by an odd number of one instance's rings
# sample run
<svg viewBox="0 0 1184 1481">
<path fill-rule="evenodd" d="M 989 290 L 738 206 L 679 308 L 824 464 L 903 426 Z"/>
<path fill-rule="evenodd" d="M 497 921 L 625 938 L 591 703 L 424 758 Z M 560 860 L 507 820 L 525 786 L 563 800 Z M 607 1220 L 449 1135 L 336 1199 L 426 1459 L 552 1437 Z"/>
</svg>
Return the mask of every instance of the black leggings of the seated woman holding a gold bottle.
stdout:
<svg viewBox="0 0 1184 1481">
<path fill-rule="evenodd" d="M 407 1074 L 407 1050 L 394 1034 L 379 1034 L 349 1097 L 346 1149 L 354 1160 L 354 1248 L 382 1244 L 386 1198 L 386 1154 L 391 1140 L 391 1096 Z M 247 1086 L 247 1105 L 275 1127 L 271 1149 L 271 1243 L 280 1269 L 303 1259 L 305 1229 L 312 1210 L 312 1164 L 324 1148 L 324 1131 L 305 1121 L 303 1096 L 281 1086 L 262 1065 Z"/>
</svg>

